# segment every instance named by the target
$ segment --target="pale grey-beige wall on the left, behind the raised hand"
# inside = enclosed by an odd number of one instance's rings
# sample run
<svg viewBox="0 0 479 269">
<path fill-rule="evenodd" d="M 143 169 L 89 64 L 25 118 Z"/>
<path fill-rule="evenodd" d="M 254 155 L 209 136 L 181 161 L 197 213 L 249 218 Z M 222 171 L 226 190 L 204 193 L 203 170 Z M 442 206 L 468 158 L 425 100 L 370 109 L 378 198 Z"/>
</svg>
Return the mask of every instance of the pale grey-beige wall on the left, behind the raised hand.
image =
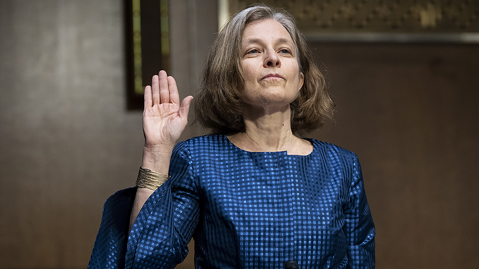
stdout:
<svg viewBox="0 0 479 269">
<path fill-rule="evenodd" d="M 170 6 L 186 96 L 216 1 Z M 134 185 L 143 134 L 126 110 L 123 29 L 122 0 L 0 1 L 0 268 L 86 268 L 103 203 Z"/>
</svg>

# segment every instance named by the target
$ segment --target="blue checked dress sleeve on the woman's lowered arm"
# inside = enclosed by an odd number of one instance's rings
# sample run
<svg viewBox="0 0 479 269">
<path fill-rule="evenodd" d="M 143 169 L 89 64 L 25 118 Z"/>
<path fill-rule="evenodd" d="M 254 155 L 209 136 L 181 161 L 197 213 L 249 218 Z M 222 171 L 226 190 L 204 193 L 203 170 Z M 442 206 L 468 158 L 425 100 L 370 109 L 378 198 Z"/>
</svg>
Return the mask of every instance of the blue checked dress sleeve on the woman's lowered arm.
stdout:
<svg viewBox="0 0 479 269">
<path fill-rule="evenodd" d="M 343 230 L 348 243 L 348 268 L 374 268 L 375 228 L 364 190 L 361 165 L 355 154 L 348 201 L 343 209 L 345 217 Z"/>
</svg>

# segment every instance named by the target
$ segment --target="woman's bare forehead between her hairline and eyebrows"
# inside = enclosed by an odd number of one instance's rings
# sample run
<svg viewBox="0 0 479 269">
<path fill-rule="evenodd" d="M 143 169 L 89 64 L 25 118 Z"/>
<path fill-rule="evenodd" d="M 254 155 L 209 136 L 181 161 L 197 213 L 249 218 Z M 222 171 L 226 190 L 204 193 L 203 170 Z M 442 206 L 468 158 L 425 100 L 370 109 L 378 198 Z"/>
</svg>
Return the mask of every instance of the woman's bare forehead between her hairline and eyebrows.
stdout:
<svg viewBox="0 0 479 269">
<path fill-rule="evenodd" d="M 273 19 L 254 21 L 244 28 L 241 39 L 242 45 L 268 41 L 294 44 L 286 28 Z"/>
</svg>

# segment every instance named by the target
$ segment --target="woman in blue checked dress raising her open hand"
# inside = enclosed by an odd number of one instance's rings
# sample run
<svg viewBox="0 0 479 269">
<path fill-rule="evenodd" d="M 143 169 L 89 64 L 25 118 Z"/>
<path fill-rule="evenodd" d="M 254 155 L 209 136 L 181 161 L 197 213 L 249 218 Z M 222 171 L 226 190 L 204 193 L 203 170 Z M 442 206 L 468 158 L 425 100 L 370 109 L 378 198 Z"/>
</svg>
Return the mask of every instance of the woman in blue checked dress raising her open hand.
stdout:
<svg viewBox="0 0 479 269">
<path fill-rule="evenodd" d="M 356 155 L 295 135 L 333 103 L 289 14 L 258 5 L 232 18 L 196 98 L 214 135 L 174 146 L 192 97 L 180 104 L 164 71 L 146 87 L 138 187 L 105 203 L 89 268 L 174 268 L 192 237 L 196 268 L 374 267 Z"/>
</svg>

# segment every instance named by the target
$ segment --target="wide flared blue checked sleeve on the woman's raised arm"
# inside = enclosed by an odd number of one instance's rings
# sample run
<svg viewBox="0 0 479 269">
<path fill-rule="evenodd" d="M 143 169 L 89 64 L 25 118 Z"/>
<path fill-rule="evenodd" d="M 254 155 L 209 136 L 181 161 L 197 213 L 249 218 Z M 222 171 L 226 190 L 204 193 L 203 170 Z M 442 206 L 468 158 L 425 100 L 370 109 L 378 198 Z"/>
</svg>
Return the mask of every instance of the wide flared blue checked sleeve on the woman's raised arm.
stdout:
<svg viewBox="0 0 479 269">
<path fill-rule="evenodd" d="M 199 218 L 193 162 L 184 142 L 174 148 L 170 175 L 145 202 L 129 236 L 129 218 L 119 218 L 117 211 L 128 210 L 120 215 L 129 216 L 134 195 L 122 209 L 107 208 L 107 201 L 88 268 L 174 268 L 184 260 Z M 121 200 L 115 195 L 109 200 Z"/>
</svg>

